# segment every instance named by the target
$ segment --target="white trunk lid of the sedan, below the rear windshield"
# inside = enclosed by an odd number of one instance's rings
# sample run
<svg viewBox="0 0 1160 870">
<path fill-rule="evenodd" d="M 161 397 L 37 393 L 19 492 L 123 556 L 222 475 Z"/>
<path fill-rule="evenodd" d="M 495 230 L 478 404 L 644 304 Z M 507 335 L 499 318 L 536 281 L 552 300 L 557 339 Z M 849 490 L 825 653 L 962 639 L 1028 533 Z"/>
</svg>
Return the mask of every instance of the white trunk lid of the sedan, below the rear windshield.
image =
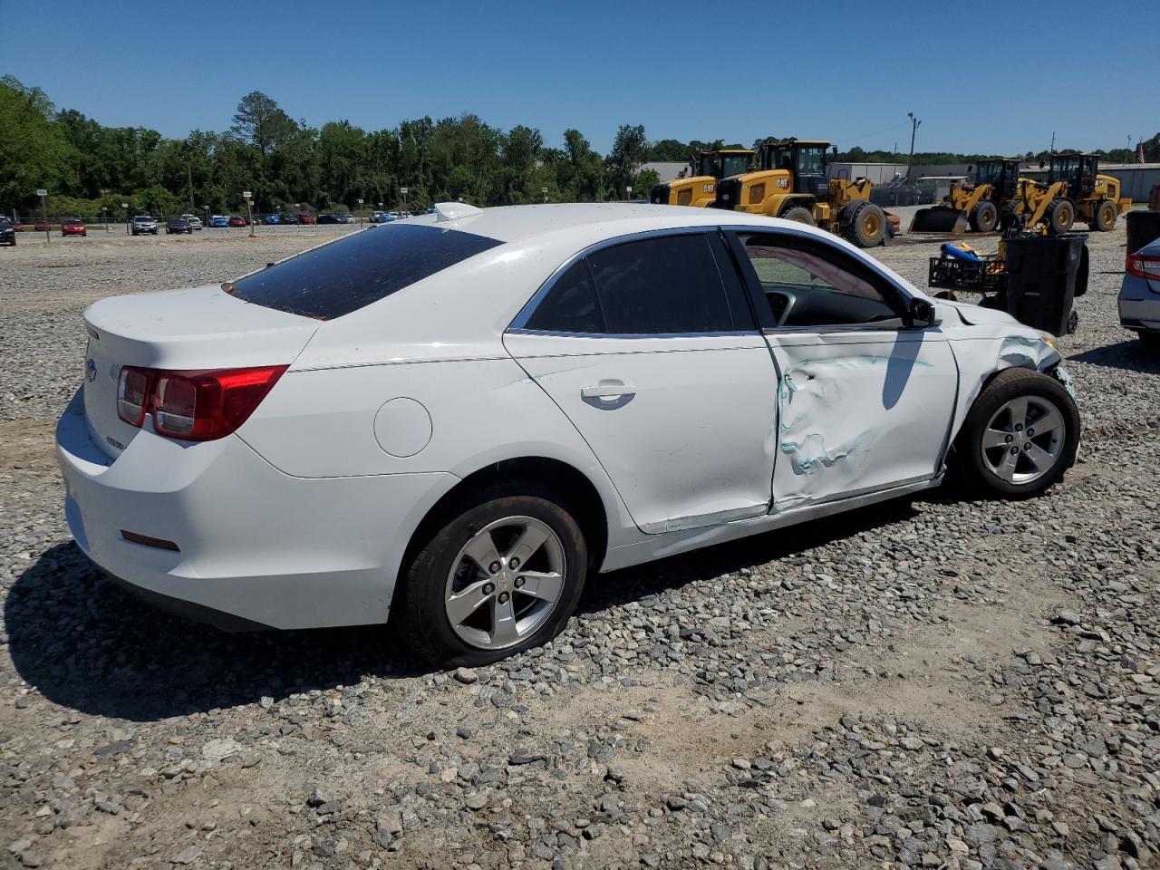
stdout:
<svg viewBox="0 0 1160 870">
<path fill-rule="evenodd" d="M 85 311 L 85 415 L 93 441 L 115 459 L 140 432 L 117 415 L 122 367 L 197 371 L 285 365 L 319 324 L 235 299 L 213 284 L 102 299 Z"/>
</svg>

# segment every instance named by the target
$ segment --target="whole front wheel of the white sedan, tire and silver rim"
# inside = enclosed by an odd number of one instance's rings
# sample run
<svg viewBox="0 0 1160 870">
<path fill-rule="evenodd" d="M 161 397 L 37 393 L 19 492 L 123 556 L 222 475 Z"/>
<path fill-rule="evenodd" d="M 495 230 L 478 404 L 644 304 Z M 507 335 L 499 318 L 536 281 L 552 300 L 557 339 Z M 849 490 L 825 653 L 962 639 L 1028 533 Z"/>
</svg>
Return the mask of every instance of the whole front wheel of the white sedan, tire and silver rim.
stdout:
<svg viewBox="0 0 1160 870">
<path fill-rule="evenodd" d="M 1007 369 L 987 385 L 955 442 L 956 470 L 973 490 L 1022 499 L 1058 483 L 1075 462 L 1080 416 L 1056 378 Z"/>
</svg>

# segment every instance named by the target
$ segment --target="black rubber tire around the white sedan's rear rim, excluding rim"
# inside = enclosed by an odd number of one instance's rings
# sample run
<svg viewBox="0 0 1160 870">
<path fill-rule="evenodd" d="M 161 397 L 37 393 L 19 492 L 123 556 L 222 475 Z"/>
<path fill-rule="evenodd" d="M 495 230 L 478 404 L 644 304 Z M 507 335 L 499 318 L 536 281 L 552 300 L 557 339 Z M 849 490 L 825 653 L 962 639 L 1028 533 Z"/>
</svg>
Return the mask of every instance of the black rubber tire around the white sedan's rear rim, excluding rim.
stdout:
<svg viewBox="0 0 1160 870">
<path fill-rule="evenodd" d="M 394 595 L 396 606 L 401 608 L 404 639 L 416 655 L 432 665 L 474 667 L 539 646 L 556 637 L 575 610 L 588 570 L 583 532 L 572 514 L 557 503 L 560 499 L 556 495 L 534 486 L 523 490 L 536 494 L 505 494 L 492 490 L 448 510 L 443 520 L 428 529 L 427 539 L 400 575 Z M 556 534 L 564 553 L 564 586 L 554 608 L 535 631 L 510 646 L 484 648 L 456 633 L 447 614 L 444 594 L 448 578 L 456 567 L 451 563 L 461 550 L 480 529 L 506 517 L 531 517 Z M 515 601 L 515 593 L 512 600 Z M 483 607 L 491 606 L 485 603 Z"/>
</svg>

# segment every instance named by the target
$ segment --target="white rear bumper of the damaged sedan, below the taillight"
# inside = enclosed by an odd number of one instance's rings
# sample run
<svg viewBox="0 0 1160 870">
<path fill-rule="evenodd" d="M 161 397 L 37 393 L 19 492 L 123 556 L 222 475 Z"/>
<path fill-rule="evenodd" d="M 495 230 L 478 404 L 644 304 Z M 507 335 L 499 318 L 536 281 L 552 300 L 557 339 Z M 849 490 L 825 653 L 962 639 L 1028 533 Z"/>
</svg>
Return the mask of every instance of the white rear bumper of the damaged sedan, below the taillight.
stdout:
<svg viewBox="0 0 1160 870">
<path fill-rule="evenodd" d="M 412 530 L 458 481 L 298 478 L 235 435 L 189 444 L 147 429 L 110 459 L 80 392 L 57 425 L 57 456 L 70 530 L 99 567 L 169 610 L 231 629 L 385 622 Z"/>
</svg>

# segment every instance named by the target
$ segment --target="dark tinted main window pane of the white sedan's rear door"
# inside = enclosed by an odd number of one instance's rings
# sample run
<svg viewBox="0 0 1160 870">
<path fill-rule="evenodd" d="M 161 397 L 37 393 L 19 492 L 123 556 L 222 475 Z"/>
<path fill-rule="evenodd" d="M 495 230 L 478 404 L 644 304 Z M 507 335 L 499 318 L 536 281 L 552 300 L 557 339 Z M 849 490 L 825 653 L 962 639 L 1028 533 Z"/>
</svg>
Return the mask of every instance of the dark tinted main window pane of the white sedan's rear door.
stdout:
<svg viewBox="0 0 1160 870">
<path fill-rule="evenodd" d="M 611 334 L 730 332 L 734 328 L 704 234 L 630 241 L 588 255 Z"/>
</svg>

